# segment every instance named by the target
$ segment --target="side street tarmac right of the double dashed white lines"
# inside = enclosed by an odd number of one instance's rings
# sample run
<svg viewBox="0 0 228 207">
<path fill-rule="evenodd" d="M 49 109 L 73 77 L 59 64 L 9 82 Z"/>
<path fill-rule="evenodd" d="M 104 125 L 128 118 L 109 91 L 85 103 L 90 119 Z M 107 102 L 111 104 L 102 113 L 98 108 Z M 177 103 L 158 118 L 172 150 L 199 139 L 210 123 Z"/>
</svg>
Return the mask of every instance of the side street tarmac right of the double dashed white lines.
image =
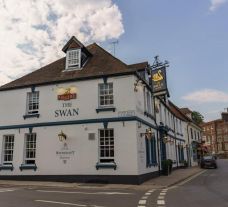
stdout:
<svg viewBox="0 0 228 207">
<path fill-rule="evenodd" d="M 218 169 L 208 169 L 195 179 L 168 189 L 166 207 L 227 207 L 228 160 L 217 160 Z"/>
</svg>

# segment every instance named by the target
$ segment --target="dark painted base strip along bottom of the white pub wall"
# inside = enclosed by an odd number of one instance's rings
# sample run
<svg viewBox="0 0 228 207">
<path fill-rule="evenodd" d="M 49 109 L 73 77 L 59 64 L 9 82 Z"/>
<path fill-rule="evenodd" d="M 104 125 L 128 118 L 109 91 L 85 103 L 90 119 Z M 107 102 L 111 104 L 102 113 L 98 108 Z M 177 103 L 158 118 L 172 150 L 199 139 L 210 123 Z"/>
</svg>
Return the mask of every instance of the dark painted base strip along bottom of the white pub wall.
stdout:
<svg viewBox="0 0 228 207">
<path fill-rule="evenodd" d="M 143 175 L 18 175 L 0 176 L 0 180 L 140 185 L 153 177 L 157 177 L 158 175 L 158 172 Z"/>
</svg>

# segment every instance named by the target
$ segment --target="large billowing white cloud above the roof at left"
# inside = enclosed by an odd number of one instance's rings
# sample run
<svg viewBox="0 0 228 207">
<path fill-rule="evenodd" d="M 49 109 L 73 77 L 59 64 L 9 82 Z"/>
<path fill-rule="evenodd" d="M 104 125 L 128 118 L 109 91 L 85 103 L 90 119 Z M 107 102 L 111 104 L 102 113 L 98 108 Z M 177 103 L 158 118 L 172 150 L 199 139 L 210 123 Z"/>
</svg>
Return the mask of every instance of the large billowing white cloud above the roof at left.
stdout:
<svg viewBox="0 0 228 207">
<path fill-rule="evenodd" d="M 0 0 L 0 84 L 63 56 L 73 35 L 87 44 L 123 32 L 112 0 Z"/>
</svg>

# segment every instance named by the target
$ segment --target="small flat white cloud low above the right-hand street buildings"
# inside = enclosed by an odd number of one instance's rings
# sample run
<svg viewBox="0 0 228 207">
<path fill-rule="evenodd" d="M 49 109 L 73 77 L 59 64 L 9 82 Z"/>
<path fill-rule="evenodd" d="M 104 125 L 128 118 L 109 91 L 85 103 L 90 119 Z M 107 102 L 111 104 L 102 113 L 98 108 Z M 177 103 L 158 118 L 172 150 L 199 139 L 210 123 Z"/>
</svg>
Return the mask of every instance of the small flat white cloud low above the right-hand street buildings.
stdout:
<svg viewBox="0 0 228 207">
<path fill-rule="evenodd" d="M 182 99 L 196 103 L 228 103 L 228 93 L 214 89 L 202 89 L 187 94 Z"/>
</svg>

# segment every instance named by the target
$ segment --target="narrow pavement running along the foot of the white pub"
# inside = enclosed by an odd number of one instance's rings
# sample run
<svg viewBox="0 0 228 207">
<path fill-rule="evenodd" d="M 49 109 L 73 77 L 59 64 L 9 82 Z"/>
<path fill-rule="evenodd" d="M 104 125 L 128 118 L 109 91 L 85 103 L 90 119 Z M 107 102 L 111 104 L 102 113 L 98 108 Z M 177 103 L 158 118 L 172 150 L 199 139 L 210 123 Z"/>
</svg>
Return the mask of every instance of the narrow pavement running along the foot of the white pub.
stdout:
<svg viewBox="0 0 228 207">
<path fill-rule="evenodd" d="M 94 184 L 94 183 L 64 183 L 64 182 L 41 182 L 41 181 L 13 181 L 0 180 L 0 186 L 18 186 L 18 187 L 51 187 L 51 188 L 103 188 L 103 189 L 162 189 L 170 187 L 179 182 L 194 176 L 203 170 L 197 167 L 174 170 L 169 176 L 159 176 L 144 182 L 141 185 L 125 184 Z"/>
</svg>

